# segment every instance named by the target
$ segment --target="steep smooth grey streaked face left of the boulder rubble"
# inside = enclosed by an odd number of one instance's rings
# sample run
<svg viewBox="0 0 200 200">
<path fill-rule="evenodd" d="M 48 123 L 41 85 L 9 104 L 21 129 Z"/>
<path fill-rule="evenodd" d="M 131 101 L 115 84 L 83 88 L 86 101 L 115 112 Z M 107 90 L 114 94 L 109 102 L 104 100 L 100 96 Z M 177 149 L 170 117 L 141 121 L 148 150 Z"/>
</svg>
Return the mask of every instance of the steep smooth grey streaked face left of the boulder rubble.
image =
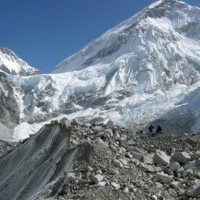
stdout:
<svg viewBox="0 0 200 200">
<path fill-rule="evenodd" d="M 0 199 L 27 200 L 52 196 L 59 191 L 73 165 L 87 161 L 88 144 L 70 147 L 70 129 L 57 122 L 19 144 L 0 159 Z"/>
</svg>

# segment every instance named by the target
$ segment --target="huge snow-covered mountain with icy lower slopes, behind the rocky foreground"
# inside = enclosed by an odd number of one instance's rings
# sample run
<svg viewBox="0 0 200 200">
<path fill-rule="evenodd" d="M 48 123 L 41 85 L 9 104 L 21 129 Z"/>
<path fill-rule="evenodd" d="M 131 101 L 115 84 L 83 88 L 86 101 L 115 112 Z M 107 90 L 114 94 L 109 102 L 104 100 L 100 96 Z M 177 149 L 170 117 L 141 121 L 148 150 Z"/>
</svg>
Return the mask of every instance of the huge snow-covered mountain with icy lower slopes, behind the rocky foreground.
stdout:
<svg viewBox="0 0 200 200">
<path fill-rule="evenodd" d="M 14 138 L 63 115 L 200 132 L 199 19 L 199 8 L 157 1 L 62 61 L 52 74 L 5 74 L 4 85 L 12 86 L 18 105 Z"/>
</svg>

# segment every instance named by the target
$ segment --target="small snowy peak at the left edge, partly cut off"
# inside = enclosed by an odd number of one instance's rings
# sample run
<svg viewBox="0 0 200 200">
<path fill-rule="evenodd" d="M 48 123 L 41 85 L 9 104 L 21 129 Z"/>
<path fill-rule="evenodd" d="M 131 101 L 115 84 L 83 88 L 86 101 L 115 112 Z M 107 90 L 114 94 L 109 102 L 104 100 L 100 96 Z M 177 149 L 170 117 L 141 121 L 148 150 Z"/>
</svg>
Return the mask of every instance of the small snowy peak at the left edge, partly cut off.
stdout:
<svg viewBox="0 0 200 200">
<path fill-rule="evenodd" d="M 41 73 L 19 58 L 13 51 L 0 46 L 0 70 L 14 75 L 34 75 Z"/>
</svg>

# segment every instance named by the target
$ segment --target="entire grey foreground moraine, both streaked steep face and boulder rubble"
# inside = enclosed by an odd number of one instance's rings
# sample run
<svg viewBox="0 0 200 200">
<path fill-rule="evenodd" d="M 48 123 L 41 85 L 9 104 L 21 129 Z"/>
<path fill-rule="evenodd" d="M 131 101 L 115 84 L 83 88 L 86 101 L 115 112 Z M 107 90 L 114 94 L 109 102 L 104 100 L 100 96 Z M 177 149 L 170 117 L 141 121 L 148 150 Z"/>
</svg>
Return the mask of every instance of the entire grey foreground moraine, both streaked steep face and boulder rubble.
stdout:
<svg viewBox="0 0 200 200">
<path fill-rule="evenodd" d="M 8 146 L 0 199 L 200 199 L 199 141 L 135 135 L 111 122 L 54 121 Z"/>
</svg>

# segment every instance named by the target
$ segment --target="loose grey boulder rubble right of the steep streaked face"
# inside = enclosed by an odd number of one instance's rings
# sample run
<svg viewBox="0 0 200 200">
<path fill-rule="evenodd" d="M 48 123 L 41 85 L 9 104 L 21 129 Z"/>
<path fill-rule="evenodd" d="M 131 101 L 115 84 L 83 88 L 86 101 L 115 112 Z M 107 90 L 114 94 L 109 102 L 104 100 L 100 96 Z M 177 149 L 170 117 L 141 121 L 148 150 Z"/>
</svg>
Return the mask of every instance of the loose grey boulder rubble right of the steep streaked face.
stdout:
<svg viewBox="0 0 200 200">
<path fill-rule="evenodd" d="M 65 122 L 66 123 L 66 122 Z M 109 122 L 71 123 L 71 148 L 94 147 L 55 189 L 56 200 L 200 199 L 200 136 L 136 135 Z"/>
</svg>

